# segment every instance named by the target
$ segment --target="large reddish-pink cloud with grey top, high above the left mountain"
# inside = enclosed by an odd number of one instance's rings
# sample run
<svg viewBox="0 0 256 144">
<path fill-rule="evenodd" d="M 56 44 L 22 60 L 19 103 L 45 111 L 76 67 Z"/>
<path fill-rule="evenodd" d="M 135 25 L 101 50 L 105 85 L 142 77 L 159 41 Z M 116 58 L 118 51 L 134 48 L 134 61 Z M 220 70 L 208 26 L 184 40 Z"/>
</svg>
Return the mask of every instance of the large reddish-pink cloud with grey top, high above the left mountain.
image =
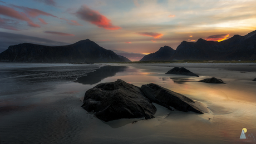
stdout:
<svg viewBox="0 0 256 144">
<path fill-rule="evenodd" d="M 110 19 L 107 19 L 105 16 L 100 14 L 97 11 L 93 11 L 92 9 L 88 8 L 86 5 L 81 6 L 80 9 L 76 12 L 76 16 L 81 18 L 83 21 L 90 22 L 95 24 L 97 27 L 105 28 L 105 29 L 120 29 L 121 27 L 114 26 L 111 23 Z"/>
</svg>

